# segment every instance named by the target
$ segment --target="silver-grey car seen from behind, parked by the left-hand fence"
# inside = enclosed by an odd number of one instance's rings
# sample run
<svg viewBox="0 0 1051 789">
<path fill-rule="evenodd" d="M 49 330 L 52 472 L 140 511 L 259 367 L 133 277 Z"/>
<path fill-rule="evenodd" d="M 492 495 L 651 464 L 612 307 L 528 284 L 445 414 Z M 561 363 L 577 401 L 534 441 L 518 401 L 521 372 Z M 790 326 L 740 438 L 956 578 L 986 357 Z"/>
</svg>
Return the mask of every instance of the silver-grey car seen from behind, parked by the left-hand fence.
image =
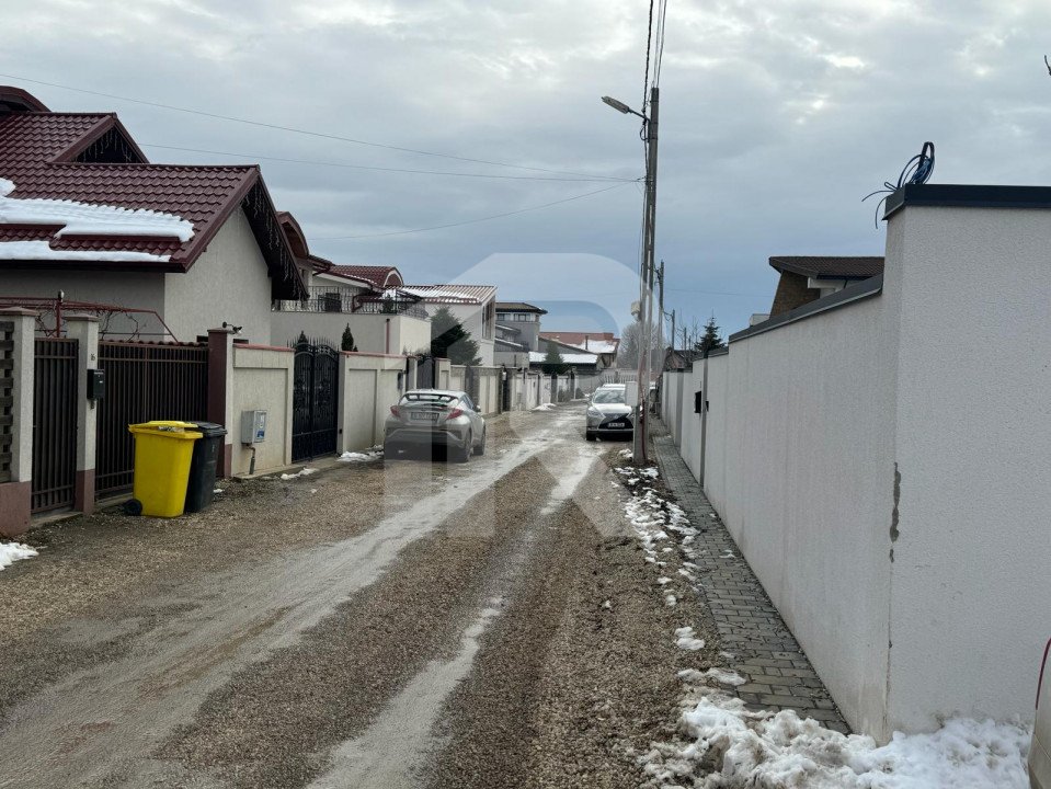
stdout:
<svg viewBox="0 0 1051 789">
<path fill-rule="evenodd" d="M 444 447 L 459 462 L 485 454 L 485 420 L 467 392 L 413 389 L 405 392 L 384 426 L 384 457 L 404 449 Z"/>
</svg>

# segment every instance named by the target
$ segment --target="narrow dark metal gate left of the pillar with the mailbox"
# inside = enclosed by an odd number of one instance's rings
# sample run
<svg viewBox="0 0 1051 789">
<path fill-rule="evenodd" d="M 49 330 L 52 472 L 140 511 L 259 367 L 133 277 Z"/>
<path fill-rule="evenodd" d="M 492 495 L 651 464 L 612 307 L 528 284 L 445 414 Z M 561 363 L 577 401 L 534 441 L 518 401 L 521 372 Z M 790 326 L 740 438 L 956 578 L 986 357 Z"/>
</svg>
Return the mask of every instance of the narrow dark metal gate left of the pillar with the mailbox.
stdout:
<svg viewBox="0 0 1051 789">
<path fill-rule="evenodd" d="M 72 506 L 77 481 L 77 341 L 34 341 L 33 512 Z"/>
</svg>

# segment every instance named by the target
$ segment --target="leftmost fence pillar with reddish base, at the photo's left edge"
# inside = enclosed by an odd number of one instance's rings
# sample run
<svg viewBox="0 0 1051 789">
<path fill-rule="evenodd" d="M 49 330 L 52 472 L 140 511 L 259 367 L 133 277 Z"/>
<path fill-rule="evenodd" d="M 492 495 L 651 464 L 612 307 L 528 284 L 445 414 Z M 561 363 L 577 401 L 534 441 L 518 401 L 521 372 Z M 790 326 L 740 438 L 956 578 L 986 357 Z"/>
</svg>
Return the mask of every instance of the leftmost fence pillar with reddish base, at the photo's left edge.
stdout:
<svg viewBox="0 0 1051 789">
<path fill-rule="evenodd" d="M 0 345 L 0 359 L 4 361 L 4 366 L 0 367 L 0 433 L 10 436 L 7 451 L 11 457 L 0 477 L 0 535 L 14 537 L 30 527 L 33 494 L 36 312 L 21 308 L 0 310 L 2 323 L 10 324 L 11 331 L 2 332 L 10 336 L 10 347 L 8 342 Z M 8 359 L 10 364 L 7 364 Z"/>
</svg>

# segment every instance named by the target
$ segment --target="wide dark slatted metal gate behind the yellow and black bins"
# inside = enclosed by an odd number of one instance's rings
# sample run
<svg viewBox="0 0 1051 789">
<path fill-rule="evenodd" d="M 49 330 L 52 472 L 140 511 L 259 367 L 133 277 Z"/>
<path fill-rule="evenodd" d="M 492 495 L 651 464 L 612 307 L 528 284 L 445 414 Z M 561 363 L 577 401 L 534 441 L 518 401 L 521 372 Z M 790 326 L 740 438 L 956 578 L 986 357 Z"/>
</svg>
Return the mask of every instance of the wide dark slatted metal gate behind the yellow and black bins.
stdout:
<svg viewBox="0 0 1051 789">
<path fill-rule="evenodd" d="M 135 444 L 128 425 L 208 418 L 208 347 L 165 343 L 99 343 L 106 396 L 99 400 L 95 498 L 130 490 Z"/>
</svg>

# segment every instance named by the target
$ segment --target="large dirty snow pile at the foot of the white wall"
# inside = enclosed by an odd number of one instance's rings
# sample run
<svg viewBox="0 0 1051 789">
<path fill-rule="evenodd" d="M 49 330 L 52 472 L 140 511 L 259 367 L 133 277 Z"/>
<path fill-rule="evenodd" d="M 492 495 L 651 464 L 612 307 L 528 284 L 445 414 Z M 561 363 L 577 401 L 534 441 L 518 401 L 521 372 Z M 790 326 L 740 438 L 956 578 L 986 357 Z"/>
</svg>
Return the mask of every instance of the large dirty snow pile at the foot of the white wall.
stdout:
<svg viewBox="0 0 1051 789">
<path fill-rule="evenodd" d="M 709 670 L 705 674 L 711 673 Z M 679 675 L 683 676 L 684 672 Z M 685 672 L 696 681 L 701 672 Z M 735 675 L 733 675 L 735 676 Z M 712 675 L 717 682 L 719 676 Z M 724 677 L 724 678 L 729 678 Z M 735 681 L 734 681 L 735 682 Z M 752 712 L 706 688 L 684 705 L 675 743 L 640 758 L 649 786 L 695 789 L 1027 789 L 1030 732 L 953 719 L 934 734 L 895 734 L 883 747 L 841 734 L 795 711 Z"/>
</svg>

